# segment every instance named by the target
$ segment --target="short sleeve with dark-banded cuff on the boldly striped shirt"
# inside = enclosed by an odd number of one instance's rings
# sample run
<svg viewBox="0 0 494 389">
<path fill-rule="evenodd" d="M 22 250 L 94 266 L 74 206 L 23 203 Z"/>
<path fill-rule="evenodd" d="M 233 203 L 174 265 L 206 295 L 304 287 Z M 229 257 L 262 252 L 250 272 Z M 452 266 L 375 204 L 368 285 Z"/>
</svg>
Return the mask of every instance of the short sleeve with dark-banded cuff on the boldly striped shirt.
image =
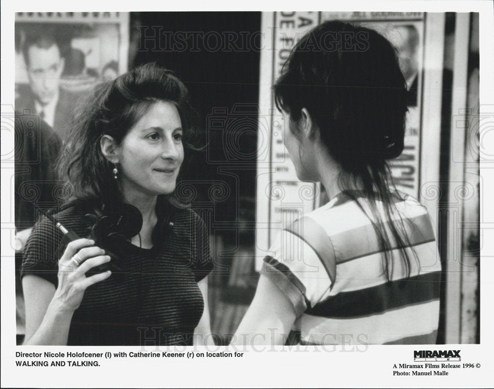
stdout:
<svg viewBox="0 0 494 389">
<path fill-rule="evenodd" d="M 309 217 L 284 229 L 270 252 L 261 274 L 285 293 L 297 316 L 315 306 L 334 283 L 336 263 L 331 241 Z"/>
</svg>

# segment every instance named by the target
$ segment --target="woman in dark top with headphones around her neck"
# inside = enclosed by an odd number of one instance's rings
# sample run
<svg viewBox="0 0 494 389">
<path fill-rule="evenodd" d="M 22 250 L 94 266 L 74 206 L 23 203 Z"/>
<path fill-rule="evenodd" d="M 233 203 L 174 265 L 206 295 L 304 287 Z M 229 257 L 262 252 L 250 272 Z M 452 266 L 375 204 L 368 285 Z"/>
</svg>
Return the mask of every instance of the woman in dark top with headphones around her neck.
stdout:
<svg viewBox="0 0 494 389">
<path fill-rule="evenodd" d="M 46 217 L 34 228 L 22 265 L 24 344 L 207 341 L 208 232 L 173 194 L 194 117 L 184 84 L 155 64 L 95 88 L 62 151 L 67 198 L 53 215 L 82 238 L 65 247 Z"/>
</svg>

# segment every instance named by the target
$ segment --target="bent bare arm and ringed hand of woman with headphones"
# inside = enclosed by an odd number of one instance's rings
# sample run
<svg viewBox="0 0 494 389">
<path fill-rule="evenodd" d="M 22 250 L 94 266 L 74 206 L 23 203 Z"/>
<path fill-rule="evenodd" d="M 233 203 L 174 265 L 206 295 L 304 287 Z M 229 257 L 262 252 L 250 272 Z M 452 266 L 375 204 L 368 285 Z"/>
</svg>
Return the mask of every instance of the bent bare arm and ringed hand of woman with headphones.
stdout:
<svg viewBox="0 0 494 389">
<path fill-rule="evenodd" d="M 86 288 L 108 278 L 111 272 L 86 277 L 91 268 L 110 261 L 105 251 L 92 246 L 93 240 L 70 242 L 58 262 L 58 287 L 47 280 L 26 274 L 22 280 L 26 306 L 25 345 L 67 345 L 70 323 Z M 75 255 L 84 262 L 76 266 Z"/>
</svg>

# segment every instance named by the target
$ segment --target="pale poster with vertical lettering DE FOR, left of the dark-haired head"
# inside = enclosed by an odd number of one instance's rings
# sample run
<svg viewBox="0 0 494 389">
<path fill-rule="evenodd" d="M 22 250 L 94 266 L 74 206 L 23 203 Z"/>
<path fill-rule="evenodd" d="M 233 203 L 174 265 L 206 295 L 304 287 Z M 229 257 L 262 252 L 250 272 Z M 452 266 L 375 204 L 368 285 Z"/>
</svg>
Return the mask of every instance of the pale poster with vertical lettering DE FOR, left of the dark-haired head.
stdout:
<svg viewBox="0 0 494 389">
<path fill-rule="evenodd" d="M 283 144 L 283 116 L 272 99 L 271 86 L 280 75 L 291 48 L 321 21 L 321 12 L 264 12 L 261 29 L 259 110 L 268 123 L 258 128 L 258 149 L 268 145 L 267 158 L 257 160 L 256 269 L 262 265 L 276 234 L 319 206 L 320 186 L 297 179 Z"/>
</svg>

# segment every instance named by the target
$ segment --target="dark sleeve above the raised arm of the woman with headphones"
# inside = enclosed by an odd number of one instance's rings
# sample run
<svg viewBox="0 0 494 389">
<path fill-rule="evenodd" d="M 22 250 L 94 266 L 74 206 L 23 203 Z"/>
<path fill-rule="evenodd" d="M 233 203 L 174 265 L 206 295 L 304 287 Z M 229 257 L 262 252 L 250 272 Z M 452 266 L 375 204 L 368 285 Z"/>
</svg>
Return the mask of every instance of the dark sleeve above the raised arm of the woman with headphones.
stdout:
<svg viewBox="0 0 494 389">
<path fill-rule="evenodd" d="M 37 275 L 58 286 L 58 245 L 60 233 L 45 217 L 35 225 L 24 251 L 21 278 L 26 274 Z"/>
</svg>

